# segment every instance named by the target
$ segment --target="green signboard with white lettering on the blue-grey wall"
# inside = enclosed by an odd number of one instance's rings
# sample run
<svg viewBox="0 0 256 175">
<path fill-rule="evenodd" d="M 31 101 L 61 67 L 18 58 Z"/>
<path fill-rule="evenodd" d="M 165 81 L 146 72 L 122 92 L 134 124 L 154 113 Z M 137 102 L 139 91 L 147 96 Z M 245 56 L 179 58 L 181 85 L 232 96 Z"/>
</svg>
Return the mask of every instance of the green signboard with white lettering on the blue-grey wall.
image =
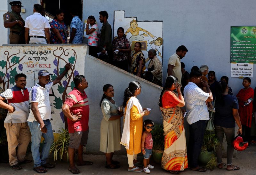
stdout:
<svg viewBox="0 0 256 175">
<path fill-rule="evenodd" d="M 256 63 L 256 27 L 231 26 L 230 62 Z"/>
</svg>

